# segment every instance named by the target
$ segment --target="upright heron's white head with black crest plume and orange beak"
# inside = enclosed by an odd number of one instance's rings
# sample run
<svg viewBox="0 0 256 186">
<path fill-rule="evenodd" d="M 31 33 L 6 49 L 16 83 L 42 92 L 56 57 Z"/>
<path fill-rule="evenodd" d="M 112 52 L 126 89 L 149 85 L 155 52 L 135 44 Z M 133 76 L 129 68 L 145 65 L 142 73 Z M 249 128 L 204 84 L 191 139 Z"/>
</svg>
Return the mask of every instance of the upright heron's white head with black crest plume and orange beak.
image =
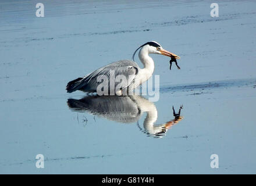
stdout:
<svg viewBox="0 0 256 186">
<path fill-rule="evenodd" d="M 157 53 L 157 54 L 161 54 L 169 57 L 175 57 L 176 59 L 180 59 L 180 56 L 177 56 L 175 53 L 172 53 L 163 49 L 158 42 L 150 41 L 150 42 L 146 42 L 144 45 L 141 45 L 139 48 L 136 49 L 136 51 L 133 53 L 133 60 L 134 60 L 135 53 L 140 48 L 147 50 L 148 53 Z"/>
</svg>

